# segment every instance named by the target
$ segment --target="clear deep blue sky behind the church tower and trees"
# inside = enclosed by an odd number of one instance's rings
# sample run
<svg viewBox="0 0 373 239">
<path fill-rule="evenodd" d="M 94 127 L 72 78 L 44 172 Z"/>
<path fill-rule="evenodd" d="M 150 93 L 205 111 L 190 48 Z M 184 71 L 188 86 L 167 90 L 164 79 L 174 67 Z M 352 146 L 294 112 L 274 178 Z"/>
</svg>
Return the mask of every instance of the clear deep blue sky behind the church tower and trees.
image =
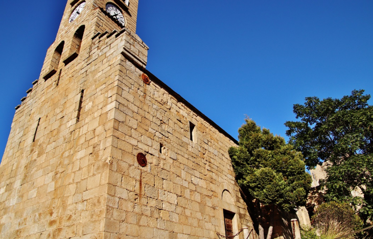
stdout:
<svg viewBox="0 0 373 239">
<path fill-rule="evenodd" d="M 148 70 L 235 138 L 245 115 L 285 136 L 307 96 L 373 95 L 373 1 L 139 1 Z M 0 9 L 1 155 L 65 4 Z"/>
</svg>

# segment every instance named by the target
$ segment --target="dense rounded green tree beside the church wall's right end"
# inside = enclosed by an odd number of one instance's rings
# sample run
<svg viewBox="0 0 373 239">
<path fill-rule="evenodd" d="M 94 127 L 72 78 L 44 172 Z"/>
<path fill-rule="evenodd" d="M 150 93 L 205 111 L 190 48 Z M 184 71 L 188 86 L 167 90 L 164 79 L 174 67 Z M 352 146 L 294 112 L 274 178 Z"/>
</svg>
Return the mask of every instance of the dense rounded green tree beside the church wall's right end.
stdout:
<svg viewBox="0 0 373 239">
<path fill-rule="evenodd" d="M 262 206 L 291 211 L 305 205 L 311 185 L 311 176 L 305 172 L 305 163 L 284 138 L 273 136 L 251 119 L 239 129 L 239 147 L 231 147 L 229 155 L 238 184 L 247 192 L 259 209 L 259 234 L 264 239 Z M 270 217 L 273 219 L 273 217 Z M 267 238 L 270 239 L 273 221 Z"/>
</svg>

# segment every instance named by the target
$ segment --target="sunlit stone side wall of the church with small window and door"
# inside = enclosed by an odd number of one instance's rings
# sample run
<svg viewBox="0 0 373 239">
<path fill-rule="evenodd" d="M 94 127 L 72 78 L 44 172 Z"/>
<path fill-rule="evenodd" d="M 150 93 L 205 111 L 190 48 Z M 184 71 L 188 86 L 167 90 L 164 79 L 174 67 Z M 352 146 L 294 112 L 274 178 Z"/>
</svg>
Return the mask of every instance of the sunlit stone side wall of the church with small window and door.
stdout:
<svg viewBox="0 0 373 239">
<path fill-rule="evenodd" d="M 128 39 L 124 50 L 135 47 L 141 58 L 141 42 Z M 105 237 L 217 238 L 225 235 L 223 209 L 236 213 L 236 233 L 251 229 L 228 156 L 235 143 L 155 81 L 144 84 L 143 70 L 128 59 L 119 69 Z M 145 168 L 139 152 L 148 158 Z"/>
</svg>

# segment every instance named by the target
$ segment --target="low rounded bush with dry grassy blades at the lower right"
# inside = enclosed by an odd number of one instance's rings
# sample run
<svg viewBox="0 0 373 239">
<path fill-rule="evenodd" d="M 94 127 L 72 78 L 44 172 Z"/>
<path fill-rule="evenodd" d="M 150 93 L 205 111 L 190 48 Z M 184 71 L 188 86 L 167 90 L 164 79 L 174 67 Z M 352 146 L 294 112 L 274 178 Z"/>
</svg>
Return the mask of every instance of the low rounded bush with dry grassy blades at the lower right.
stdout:
<svg viewBox="0 0 373 239">
<path fill-rule="evenodd" d="M 321 237 L 333 239 L 362 228 L 363 222 L 345 202 L 321 204 L 312 217 L 312 224 Z"/>
</svg>

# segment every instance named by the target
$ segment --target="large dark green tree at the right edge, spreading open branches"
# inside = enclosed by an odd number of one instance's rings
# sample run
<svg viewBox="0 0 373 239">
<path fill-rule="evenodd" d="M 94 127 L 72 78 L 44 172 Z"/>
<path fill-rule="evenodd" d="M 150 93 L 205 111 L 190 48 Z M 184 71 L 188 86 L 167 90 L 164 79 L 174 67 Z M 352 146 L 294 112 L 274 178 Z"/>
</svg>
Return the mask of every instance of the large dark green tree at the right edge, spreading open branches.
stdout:
<svg viewBox="0 0 373 239">
<path fill-rule="evenodd" d="M 355 206 L 367 220 L 373 216 L 373 107 L 370 95 L 354 90 L 341 99 L 307 97 L 304 105 L 294 104 L 299 121 L 288 121 L 286 135 L 301 151 L 309 169 L 329 162 L 328 201 L 343 200 Z M 364 197 L 353 197 L 359 187 Z"/>
</svg>

